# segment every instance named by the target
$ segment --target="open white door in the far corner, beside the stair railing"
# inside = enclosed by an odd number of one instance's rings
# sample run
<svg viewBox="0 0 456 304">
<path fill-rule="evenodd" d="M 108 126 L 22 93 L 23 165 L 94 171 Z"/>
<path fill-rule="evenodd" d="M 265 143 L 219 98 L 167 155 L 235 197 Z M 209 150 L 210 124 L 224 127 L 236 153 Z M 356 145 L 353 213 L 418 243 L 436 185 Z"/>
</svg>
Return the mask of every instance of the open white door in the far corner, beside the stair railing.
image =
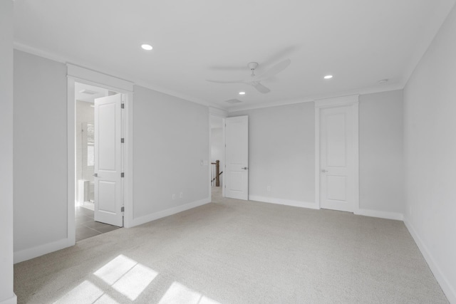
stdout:
<svg viewBox="0 0 456 304">
<path fill-rule="evenodd" d="M 249 199 L 249 117 L 225 119 L 225 196 Z"/>
</svg>

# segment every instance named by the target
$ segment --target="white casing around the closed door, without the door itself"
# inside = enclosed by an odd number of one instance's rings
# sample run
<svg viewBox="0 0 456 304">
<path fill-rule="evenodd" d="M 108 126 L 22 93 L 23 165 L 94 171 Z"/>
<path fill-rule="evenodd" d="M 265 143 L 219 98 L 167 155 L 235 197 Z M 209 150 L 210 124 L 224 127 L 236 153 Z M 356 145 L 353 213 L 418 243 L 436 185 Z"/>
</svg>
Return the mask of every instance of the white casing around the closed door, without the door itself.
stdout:
<svg viewBox="0 0 456 304">
<path fill-rule="evenodd" d="M 320 114 L 323 108 L 337 108 L 340 106 L 351 106 L 353 111 L 353 174 L 354 184 L 354 209 L 353 213 L 359 211 L 359 95 L 348 95 L 336 98 L 315 100 L 315 201 L 318 209 L 321 209 L 320 201 Z"/>
</svg>

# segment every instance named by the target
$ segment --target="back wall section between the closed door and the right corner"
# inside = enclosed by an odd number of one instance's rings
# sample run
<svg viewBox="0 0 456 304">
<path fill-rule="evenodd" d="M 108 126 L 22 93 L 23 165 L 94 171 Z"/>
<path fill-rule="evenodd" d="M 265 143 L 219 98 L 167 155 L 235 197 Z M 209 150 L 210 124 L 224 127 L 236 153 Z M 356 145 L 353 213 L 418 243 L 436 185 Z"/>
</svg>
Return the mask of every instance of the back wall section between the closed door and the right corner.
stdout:
<svg viewBox="0 0 456 304">
<path fill-rule="evenodd" d="M 405 211 L 403 91 L 359 98 L 360 209 Z"/>
</svg>

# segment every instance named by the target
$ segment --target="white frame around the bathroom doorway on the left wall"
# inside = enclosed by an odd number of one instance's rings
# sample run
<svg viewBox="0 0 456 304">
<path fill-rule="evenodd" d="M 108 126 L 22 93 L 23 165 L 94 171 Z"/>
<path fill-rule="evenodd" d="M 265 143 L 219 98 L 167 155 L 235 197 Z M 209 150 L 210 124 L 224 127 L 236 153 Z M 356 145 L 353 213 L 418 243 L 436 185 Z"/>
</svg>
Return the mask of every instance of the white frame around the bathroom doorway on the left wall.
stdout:
<svg viewBox="0 0 456 304">
<path fill-rule="evenodd" d="M 124 130 L 125 145 L 123 151 L 124 164 L 124 192 L 123 204 L 125 206 L 123 226 L 128 228 L 133 224 L 133 83 L 128 80 L 116 78 L 82 68 L 70 63 L 67 67 L 67 237 L 68 246 L 76 243 L 76 226 L 75 226 L 75 194 L 76 194 L 76 99 L 75 83 L 85 83 L 95 85 L 100 88 L 113 90 L 123 94 L 125 103 Z"/>
</svg>

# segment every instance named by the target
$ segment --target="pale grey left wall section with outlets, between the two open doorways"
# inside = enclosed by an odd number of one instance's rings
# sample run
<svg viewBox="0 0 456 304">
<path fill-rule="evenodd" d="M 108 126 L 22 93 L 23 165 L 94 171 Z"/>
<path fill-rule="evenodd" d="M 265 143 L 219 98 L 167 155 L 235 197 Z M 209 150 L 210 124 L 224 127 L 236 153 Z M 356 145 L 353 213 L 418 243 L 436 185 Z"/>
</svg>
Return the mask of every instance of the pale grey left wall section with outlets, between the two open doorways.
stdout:
<svg viewBox="0 0 456 304">
<path fill-rule="evenodd" d="M 134 98 L 134 224 L 210 201 L 209 109 L 140 86 Z"/>
</svg>

